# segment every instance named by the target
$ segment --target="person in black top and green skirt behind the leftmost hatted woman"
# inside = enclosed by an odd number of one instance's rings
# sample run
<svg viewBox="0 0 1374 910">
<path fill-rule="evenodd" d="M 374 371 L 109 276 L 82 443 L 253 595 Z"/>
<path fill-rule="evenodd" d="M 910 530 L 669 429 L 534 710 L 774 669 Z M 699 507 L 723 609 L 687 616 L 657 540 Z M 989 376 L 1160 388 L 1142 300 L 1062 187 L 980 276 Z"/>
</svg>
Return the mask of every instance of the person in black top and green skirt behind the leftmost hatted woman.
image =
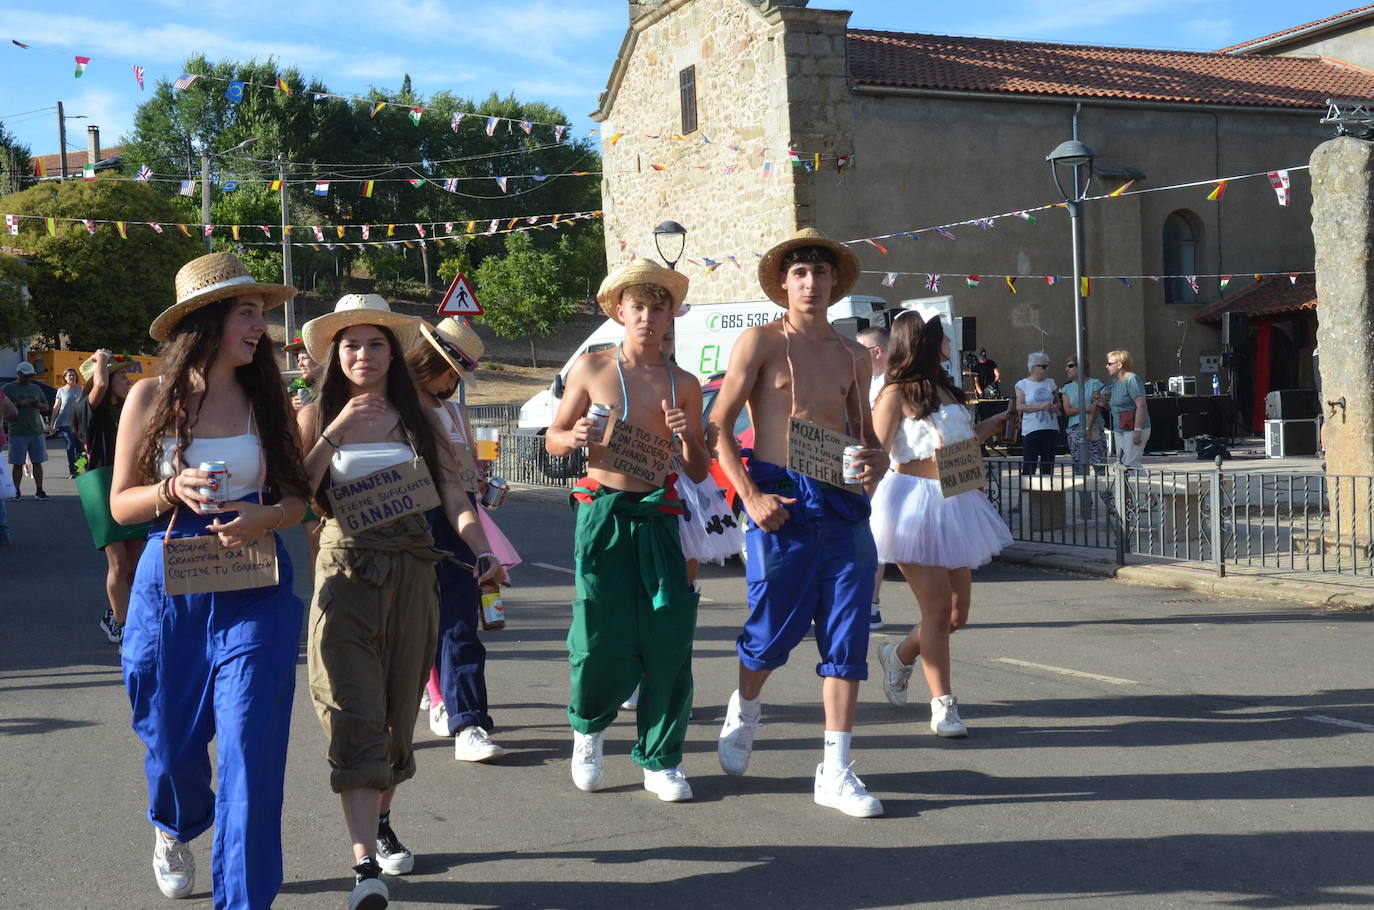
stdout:
<svg viewBox="0 0 1374 910">
<path fill-rule="evenodd" d="M 100 617 L 100 628 L 115 645 L 124 641 L 133 570 L 148 536 L 146 524 L 121 525 L 110 514 L 117 408 L 122 408 L 129 395 L 129 370 L 137 366 L 126 355 L 96 351 L 80 367 L 82 385 L 77 388 L 81 397 L 71 408 L 71 432 L 85 452 L 85 465 L 77 477 L 77 493 L 96 550 L 104 551 L 104 595 L 109 602 Z"/>
</svg>

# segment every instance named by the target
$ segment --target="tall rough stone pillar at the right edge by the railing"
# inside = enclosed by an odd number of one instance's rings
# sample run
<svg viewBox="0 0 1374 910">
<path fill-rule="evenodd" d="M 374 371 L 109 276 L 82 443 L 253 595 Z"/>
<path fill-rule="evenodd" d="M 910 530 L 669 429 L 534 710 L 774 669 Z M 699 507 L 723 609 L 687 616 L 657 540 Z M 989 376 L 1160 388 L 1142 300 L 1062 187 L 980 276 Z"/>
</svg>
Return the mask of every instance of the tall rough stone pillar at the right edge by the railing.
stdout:
<svg viewBox="0 0 1374 910">
<path fill-rule="evenodd" d="M 1323 428 L 1327 474 L 1374 474 L 1374 143 L 1341 136 L 1312 153 L 1320 396 L 1345 399 Z"/>
</svg>

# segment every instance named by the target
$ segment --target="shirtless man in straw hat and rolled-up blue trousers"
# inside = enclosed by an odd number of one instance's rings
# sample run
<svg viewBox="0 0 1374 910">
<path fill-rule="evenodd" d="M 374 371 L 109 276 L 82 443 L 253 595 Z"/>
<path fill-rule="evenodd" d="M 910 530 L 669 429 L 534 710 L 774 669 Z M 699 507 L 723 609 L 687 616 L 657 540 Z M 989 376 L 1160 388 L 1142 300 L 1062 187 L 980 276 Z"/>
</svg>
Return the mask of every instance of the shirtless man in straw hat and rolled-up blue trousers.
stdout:
<svg viewBox="0 0 1374 910">
<path fill-rule="evenodd" d="M 857 257 L 813 228 L 798 231 L 760 260 L 758 283 L 787 312 L 735 342 L 709 434 L 717 462 L 749 513 L 749 619 L 736 645 L 739 689 L 730 697 L 720 730 L 720 767 L 727 774 L 749 767 L 764 682 L 815 621 L 826 713 L 815 799 L 870 818 L 882 815 L 882 804 L 849 762 L 859 682 L 868 678 L 868 603 L 878 562 L 868 533 L 868 499 L 786 467 L 790 417 L 861 439 L 860 481 L 866 485 L 888 467 L 868 411 L 868 352 L 826 319 L 829 307 L 849 293 L 857 276 Z M 754 425 L 747 470 L 731 432 L 745 404 Z"/>
</svg>

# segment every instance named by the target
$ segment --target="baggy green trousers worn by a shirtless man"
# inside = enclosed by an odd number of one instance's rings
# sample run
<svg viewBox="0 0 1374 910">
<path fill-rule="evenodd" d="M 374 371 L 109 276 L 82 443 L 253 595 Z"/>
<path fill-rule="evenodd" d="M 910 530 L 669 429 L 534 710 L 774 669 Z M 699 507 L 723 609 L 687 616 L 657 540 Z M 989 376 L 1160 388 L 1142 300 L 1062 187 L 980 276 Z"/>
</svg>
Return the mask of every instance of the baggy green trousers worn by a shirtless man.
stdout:
<svg viewBox="0 0 1374 910">
<path fill-rule="evenodd" d="M 650 771 L 676 767 L 691 718 L 698 599 L 677 536 L 682 503 L 665 489 L 640 496 L 584 480 L 573 507 L 577 598 L 567 631 L 567 719 L 578 733 L 599 733 L 639 686 L 632 757 Z"/>
</svg>

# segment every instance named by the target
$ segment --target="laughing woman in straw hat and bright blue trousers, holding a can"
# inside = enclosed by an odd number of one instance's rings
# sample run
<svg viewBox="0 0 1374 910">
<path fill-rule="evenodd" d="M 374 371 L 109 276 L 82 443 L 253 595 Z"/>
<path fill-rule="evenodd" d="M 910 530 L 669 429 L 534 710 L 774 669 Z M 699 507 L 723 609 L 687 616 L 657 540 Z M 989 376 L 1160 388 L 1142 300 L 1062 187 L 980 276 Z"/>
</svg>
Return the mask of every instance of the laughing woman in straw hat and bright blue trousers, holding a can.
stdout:
<svg viewBox="0 0 1374 910">
<path fill-rule="evenodd" d="M 164 342 L 161 374 L 129 392 L 114 452 L 114 518 L 154 522 L 133 581 L 124 682 L 147 746 L 158 888 L 191 894 L 187 841 L 214 825 L 214 905 L 267 907 L 282 884 L 282 779 L 304 613 L 275 532 L 301 520 L 306 481 L 262 313 L 295 289 L 256 282 L 229 253 L 187 263 L 176 289 L 177 302 L 148 330 Z M 212 477 L 202 462 L 224 462 L 228 473 Z M 168 594 L 176 575 L 165 575 L 166 554 L 206 536 L 216 550 L 217 536 L 231 553 L 256 544 L 256 558 L 275 554 L 276 581 Z"/>
</svg>

